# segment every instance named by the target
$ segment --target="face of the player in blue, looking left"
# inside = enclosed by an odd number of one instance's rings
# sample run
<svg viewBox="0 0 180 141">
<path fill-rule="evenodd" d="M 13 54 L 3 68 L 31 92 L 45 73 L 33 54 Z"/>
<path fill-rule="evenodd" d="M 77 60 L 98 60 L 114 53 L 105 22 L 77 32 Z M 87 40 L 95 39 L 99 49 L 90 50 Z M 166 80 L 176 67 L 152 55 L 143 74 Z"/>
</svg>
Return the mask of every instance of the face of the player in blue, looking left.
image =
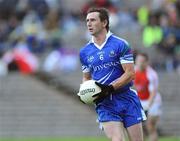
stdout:
<svg viewBox="0 0 180 141">
<path fill-rule="evenodd" d="M 105 22 L 100 20 L 98 12 L 89 13 L 86 17 L 86 24 L 90 34 L 93 36 L 99 34 L 106 26 Z"/>
</svg>

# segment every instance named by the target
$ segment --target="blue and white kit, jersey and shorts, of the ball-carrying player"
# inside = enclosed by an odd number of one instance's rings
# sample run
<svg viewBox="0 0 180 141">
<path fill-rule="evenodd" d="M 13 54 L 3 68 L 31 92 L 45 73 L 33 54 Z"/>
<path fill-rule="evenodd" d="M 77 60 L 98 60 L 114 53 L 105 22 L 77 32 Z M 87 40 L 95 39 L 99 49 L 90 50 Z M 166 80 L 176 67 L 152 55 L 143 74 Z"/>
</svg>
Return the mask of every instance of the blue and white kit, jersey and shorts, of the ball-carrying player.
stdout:
<svg viewBox="0 0 180 141">
<path fill-rule="evenodd" d="M 93 40 L 83 47 L 80 61 L 84 73 L 90 73 L 92 79 L 106 85 L 123 75 L 122 64 L 134 63 L 129 44 L 110 32 L 101 47 Z M 146 119 L 136 92 L 129 88 L 131 86 L 132 82 L 96 103 L 99 122 L 120 121 L 130 127 Z"/>
</svg>

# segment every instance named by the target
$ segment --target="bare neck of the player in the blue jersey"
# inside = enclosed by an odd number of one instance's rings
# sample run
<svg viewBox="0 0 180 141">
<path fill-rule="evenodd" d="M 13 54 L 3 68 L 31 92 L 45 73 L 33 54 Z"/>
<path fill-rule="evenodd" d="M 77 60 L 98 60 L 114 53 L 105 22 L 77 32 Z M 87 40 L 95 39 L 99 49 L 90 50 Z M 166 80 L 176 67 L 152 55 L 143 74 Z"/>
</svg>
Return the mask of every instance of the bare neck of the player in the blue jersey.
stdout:
<svg viewBox="0 0 180 141">
<path fill-rule="evenodd" d="M 107 31 L 106 31 L 106 30 L 103 30 L 103 31 L 100 32 L 99 34 L 94 35 L 94 36 L 93 36 L 94 42 L 95 42 L 97 45 L 101 46 L 101 45 L 105 42 L 105 40 L 106 40 L 106 34 L 107 34 Z"/>
</svg>

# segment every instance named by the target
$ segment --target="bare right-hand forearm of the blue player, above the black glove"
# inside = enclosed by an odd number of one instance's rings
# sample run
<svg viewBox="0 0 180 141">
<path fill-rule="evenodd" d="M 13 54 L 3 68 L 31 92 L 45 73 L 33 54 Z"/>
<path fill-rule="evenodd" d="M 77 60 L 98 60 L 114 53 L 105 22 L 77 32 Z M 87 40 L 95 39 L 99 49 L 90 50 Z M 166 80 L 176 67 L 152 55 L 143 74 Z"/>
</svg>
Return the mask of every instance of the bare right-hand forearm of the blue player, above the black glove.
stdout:
<svg viewBox="0 0 180 141">
<path fill-rule="evenodd" d="M 123 87 L 124 85 L 131 82 L 135 77 L 134 71 L 126 71 L 116 82 L 114 82 L 112 85 L 114 89 L 119 89 Z"/>
</svg>

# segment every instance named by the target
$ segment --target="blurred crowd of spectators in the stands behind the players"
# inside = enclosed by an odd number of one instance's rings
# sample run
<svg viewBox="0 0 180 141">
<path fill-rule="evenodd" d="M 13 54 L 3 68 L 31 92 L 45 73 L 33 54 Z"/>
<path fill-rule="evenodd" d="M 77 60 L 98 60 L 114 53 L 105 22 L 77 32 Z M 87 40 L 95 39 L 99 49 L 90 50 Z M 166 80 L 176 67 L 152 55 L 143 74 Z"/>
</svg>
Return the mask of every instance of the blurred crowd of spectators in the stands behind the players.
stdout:
<svg viewBox="0 0 180 141">
<path fill-rule="evenodd" d="M 72 11 L 63 0 L 1 0 L 0 75 L 15 70 L 75 71 L 78 49 L 89 39 L 84 18 L 93 6 L 110 11 L 112 32 L 139 33 L 134 42 L 141 46 L 133 45 L 135 51 L 155 54 L 155 64 L 166 71 L 180 69 L 180 0 L 79 1 L 82 6 Z"/>
</svg>

